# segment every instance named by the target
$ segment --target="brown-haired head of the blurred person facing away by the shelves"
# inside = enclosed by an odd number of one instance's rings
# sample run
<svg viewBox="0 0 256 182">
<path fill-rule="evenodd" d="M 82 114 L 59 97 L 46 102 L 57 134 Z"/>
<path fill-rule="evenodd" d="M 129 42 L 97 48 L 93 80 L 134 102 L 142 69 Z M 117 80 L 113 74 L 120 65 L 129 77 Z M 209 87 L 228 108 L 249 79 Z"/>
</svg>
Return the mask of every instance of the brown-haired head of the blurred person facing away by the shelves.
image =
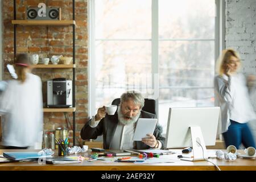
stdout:
<svg viewBox="0 0 256 182">
<path fill-rule="evenodd" d="M 26 81 L 27 69 L 30 67 L 30 61 L 26 53 L 20 53 L 15 60 L 15 72 L 20 82 Z"/>
</svg>

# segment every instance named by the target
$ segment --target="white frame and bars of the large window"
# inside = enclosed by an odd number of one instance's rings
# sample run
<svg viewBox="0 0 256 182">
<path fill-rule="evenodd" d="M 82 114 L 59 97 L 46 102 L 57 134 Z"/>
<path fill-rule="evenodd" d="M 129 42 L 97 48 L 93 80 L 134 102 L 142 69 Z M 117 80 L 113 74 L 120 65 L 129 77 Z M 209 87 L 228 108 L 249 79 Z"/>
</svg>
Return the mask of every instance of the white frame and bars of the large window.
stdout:
<svg viewBox="0 0 256 182">
<path fill-rule="evenodd" d="M 158 80 L 158 65 L 159 65 L 159 40 L 158 39 L 158 0 L 151 0 L 151 68 L 152 68 L 152 83 L 155 81 L 156 88 L 154 92 L 159 93 L 159 80 Z M 216 15 L 215 15 L 215 36 L 214 39 L 214 60 L 216 61 L 222 48 L 224 48 L 224 28 L 225 28 L 225 2 L 224 0 L 215 0 Z M 94 0 L 88 1 L 88 115 L 90 118 L 93 117 L 96 108 L 96 76 L 93 74 L 96 68 L 95 65 L 95 4 Z M 97 39 L 104 40 L 104 39 Z M 108 39 L 108 40 L 142 40 L 142 39 Z M 146 40 L 146 39 L 143 39 Z M 168 40 L 202 40 L 202 39 L 168 39 Z M 207 40 L 207 39 L 203 39 Z M 154 60 L 154 61 L 153 61 Z M 215 72 L 216 75 L 216 72 Z M 215 95 L 214 95 L 215 96 Z M 216 105 L 216 104 L 215 104 Z M 156 99 L 156 113 L 158 114 L 158 98 Z"/>
</svg>

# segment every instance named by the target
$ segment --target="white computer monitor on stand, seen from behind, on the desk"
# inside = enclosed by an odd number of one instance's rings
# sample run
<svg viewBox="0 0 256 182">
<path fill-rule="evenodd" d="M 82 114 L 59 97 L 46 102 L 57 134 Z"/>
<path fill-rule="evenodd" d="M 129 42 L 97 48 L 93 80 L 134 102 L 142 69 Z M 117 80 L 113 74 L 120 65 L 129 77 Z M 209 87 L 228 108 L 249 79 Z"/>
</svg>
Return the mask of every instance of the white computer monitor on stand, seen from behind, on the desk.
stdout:
<svg viewBox="0 0 256 182">
<path fill-rule="evenodd" d="M 166 148 L 193 147 L 193 160 L 208 158 L 205 146 L 216 142 L 220 107 L 170 108 Z"/>
</svg>

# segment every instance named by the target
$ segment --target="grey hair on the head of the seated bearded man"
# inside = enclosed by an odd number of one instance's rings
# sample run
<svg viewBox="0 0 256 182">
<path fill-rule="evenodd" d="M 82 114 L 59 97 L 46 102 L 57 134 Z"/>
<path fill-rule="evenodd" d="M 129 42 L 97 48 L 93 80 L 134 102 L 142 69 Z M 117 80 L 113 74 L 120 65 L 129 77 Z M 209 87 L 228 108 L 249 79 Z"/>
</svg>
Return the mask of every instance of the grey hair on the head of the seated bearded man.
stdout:
<svg viewBox="0 0 256 182">
<path fill-rule="evenodd" d="M 123 93 L 121 96 L 121 104 L 130 99 L 134 101 L 134 104 L 141 105 L 141 108 L 144 106 L 144 97 L 140 92 L 135 90 L 129 90 Z"/>
</svg>

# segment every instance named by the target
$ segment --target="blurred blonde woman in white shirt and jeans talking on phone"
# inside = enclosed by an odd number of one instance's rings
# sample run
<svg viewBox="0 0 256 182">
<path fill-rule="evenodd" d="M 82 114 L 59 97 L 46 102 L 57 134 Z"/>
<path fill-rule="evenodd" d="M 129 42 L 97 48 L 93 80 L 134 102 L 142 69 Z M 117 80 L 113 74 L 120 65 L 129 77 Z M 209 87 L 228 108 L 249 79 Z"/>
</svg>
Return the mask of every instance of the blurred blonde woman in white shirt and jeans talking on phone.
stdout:
<svg viewBox="0 0 256 182">
<path fill-rule="evenodd" d="M 238 73 L 241 67 L 240 56 L 233 49 L 222 52 L 217 64 L 218 76 L 215 77 L 214 87 L 216 100 L 221 107 L 221 133 L 226 147 L 241 144 L 254 147 L 255 142 L 247 122 L 254 120 L 255 113 L 249 98 L 249 91 L 253 90 L 250 84 L 254 76 L 245 78 Z"/>
</svg>

